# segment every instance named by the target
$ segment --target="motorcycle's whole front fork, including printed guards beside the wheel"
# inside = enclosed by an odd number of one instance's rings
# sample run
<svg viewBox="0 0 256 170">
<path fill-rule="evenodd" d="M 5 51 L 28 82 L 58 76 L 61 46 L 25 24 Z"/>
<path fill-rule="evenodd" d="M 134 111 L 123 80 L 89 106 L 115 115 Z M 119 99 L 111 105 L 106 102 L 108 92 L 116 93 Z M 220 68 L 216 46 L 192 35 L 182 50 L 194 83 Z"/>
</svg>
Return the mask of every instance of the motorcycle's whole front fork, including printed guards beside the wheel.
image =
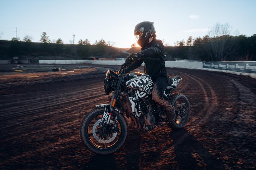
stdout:
<svg viewBox="0 0 256 170">
<path fill-rule="evenodd" d="M 116 84 L 116 88 L 113 92 L 113 96 L 112 96 L 111 101 L 110 101 L 110 105 L 106 105 L 105 112 L 104 112 L 103 117 L 102 117 L 102 124 L 101 125 L 103 125 L 104 122 L 105 122 L 104 115 L 105 115 L 106 112 L 108 112 L 108 114 L 109 114 L 106 124 L 110 123 L 111 116 L 113 115 L 113 111 L 115 110 L 115 105 L 116 105 L 117 98 L 119 96 L 119 92 L 120 92 L 120 88 L 121 88 L 123 78 L 124 78 L 124 74 L 120 74 L 118 82 Z M 108 107 L 109 107 L 109 110 L 108 110 Z M 106 116 L 105 116 L 105 118 L 106 118 Z"/>
</svg>

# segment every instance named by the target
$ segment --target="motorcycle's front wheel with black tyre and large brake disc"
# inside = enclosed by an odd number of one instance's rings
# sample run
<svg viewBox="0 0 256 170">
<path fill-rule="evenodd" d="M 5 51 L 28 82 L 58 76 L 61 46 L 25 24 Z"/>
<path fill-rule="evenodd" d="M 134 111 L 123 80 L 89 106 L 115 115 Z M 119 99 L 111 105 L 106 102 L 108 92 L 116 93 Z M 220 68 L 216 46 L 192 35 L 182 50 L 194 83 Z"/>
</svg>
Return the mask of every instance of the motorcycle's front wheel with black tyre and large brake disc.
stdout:
<svg viewBox="0 0 256 170">
<path fill-rule="evenodd" d="M 104 108 L 95 108 L 86 114 L 81 122 L 80 136 L 88 150 L 106 155 L 115 153 L 124 145 L 128 136 L 128 124 L 122 114 L 114 111 L 110 123 L 114 122 L 117 115 L 116 123 L 113 128 L 107 129 L 105 133 L 102 133 L 100 131 L 102 127 L 99 124 L 103 113 Z M 118 131 L 114 131 L 116 129 Z"/>
</svg>

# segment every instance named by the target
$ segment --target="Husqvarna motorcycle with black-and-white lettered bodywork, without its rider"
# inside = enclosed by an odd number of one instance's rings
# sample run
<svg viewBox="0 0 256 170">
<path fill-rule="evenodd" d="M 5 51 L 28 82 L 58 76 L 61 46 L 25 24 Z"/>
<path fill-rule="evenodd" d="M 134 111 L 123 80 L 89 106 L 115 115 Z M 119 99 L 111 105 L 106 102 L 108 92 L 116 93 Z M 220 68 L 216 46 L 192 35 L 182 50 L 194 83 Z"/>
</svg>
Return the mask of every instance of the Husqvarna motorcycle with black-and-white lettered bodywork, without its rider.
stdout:
<svg viewBox="0 0 256 170">
<path fill-rule="evenodd" d="M 81 122 L 81 140 L 94 153 L 112 154 L 119 150 L 127 139 L 129 128 L 146 133 L 164 125 L 172 129 L 182 128 L 188 121 L 187 97 L 172 93 L 182 80 L 180 76 L 169 77 L 164 93 L 176 114 L 171 122 L 169 120 L 173 118 L 168 118 L 164 108 L 152 100 L 154 83 L 150 76 L 137 72 L 125 74 L 125 68 L 126 64 L 123 64 L 120 70 L 107 70 L 104 88 L 109 104 L 96 105 Z M 130 121 L 129 126 L 126 119 Z"/>
</svg>

